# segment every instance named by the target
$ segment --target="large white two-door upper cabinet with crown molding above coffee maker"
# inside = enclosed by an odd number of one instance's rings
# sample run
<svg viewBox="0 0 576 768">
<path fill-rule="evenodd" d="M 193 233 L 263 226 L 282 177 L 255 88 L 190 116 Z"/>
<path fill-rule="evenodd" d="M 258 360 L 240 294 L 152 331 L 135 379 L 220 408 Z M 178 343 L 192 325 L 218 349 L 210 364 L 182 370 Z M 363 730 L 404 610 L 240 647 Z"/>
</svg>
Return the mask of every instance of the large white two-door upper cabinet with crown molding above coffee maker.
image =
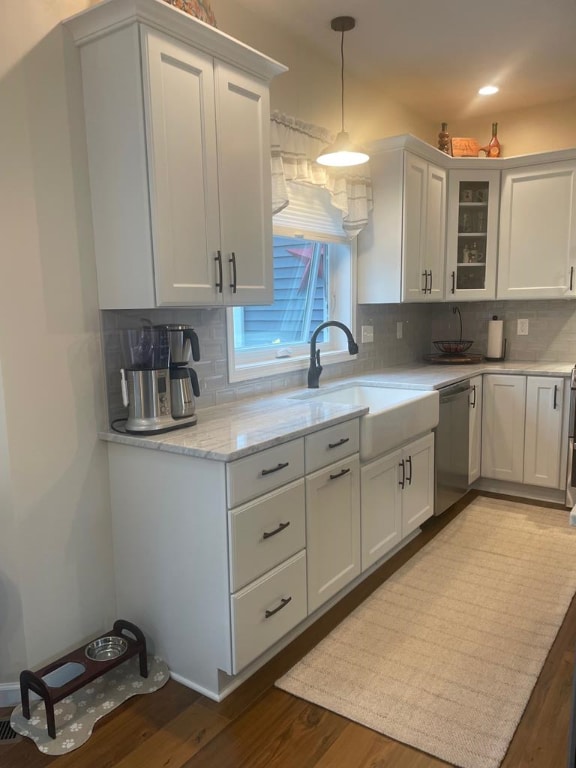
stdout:
<svg viewBox="0 0 576 768">
<path fill-rule="evenodd" d="M 272 301 L 268 89 L 285 68 L 163 0 L 67 24 L 101 308 Z"/>
</svg>

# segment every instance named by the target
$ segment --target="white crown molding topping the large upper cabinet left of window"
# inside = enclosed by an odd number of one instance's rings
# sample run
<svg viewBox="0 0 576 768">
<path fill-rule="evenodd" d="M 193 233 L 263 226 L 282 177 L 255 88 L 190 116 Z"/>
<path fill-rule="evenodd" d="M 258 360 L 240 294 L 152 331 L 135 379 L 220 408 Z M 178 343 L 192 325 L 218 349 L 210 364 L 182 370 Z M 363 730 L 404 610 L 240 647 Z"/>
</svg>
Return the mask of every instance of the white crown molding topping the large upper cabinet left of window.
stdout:
<svg viewBox="0 0 576 768">
<path fill-rule="evenodd" d="M 216 55 L 265 80 L 287 71 L 278 61 L 216 27 L 174 8 L 165 0 L 102 0 L 64 21 L 77 46 L 83 46 L 135 21 Z"/>
</svg>

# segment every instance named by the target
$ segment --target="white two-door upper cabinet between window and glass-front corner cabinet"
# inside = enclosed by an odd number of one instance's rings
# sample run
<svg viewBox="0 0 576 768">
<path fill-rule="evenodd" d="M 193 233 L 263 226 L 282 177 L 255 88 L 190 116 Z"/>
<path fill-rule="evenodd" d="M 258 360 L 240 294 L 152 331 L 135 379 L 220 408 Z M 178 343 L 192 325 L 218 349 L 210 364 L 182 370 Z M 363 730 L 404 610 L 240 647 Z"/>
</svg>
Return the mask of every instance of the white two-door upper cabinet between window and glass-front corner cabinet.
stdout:
<svg viewBox="0 0 576 768">
<path fill-rule="evenodd" d="M 390 143 L 370 160 L 374 210 L 358 236 L 358 301 L 441 301 L 447 172 Z"/>
</svg>

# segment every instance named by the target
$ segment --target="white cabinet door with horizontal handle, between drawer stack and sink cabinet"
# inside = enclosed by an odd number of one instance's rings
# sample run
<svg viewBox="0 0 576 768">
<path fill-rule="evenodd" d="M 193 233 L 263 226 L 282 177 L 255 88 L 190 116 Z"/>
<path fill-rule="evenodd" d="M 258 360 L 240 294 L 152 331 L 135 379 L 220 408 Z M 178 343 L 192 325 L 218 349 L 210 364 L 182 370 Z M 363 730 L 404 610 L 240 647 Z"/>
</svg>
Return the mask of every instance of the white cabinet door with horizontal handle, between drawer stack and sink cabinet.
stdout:
<svg viewBox="0 0 576 768">
<path fill-rule="evenodd" d="M 360 573 L 358 454 L 306 478 L 308 611 Z"/>
</svg>

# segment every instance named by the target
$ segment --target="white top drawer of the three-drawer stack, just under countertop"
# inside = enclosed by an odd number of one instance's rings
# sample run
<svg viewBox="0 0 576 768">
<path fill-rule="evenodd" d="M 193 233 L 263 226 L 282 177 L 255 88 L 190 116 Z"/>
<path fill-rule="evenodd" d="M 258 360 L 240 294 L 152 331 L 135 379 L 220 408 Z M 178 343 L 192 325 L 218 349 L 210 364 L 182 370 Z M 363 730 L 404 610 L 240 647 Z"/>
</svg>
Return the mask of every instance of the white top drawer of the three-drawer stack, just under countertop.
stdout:
<svg viewBox="0 0 576 768">
<path fill-rule="evenodd" d="M 304 440 L 291 440 L 226 465 L 228 509 L 304 474 Z"/>
</svg>

